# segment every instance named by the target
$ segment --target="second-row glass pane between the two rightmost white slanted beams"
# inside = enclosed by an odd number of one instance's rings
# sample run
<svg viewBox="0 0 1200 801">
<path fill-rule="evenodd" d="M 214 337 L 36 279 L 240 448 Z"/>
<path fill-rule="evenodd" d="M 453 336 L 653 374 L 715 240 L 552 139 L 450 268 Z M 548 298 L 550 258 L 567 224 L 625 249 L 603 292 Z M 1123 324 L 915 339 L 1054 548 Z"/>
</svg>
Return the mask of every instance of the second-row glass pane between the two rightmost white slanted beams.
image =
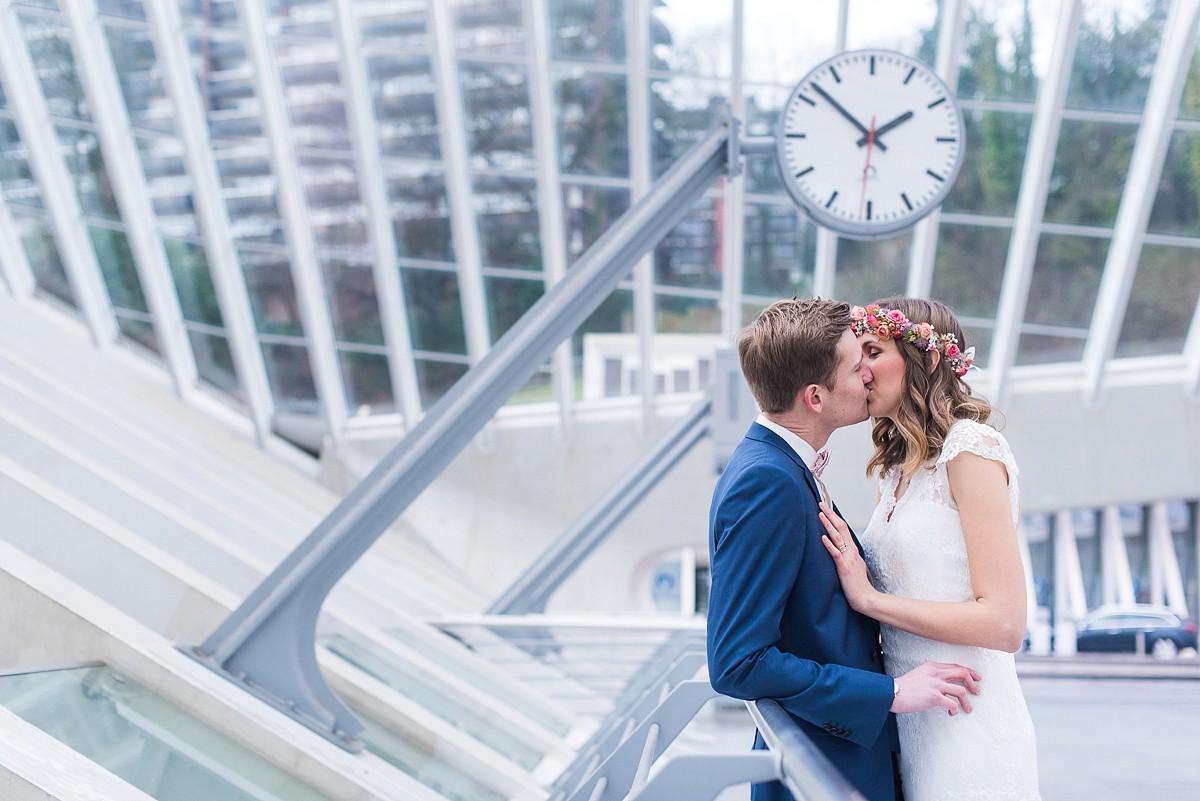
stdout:
<svg viewBox="0 0 1200 801">
<path fill-rule="evenodd" d="M 1046 193 L 1046 221 L 1111 227 L 1136 134 L 1133 125 L 1063 120 Z"/>
</svg>

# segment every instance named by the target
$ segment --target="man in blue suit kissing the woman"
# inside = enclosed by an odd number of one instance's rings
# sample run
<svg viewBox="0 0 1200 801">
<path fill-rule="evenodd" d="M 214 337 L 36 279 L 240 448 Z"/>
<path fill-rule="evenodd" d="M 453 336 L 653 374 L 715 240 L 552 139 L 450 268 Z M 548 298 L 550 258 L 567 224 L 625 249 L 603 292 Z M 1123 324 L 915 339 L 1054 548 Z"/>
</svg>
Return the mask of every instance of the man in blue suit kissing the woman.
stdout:
<svg viewBox="0 0 1200 801">
<path fill-rule="evenodd" d="M 738 336 L 762 414 L 713 494 L 708 670 L 720 693 L 775 699 L 868 799 L 894 801 L 894 713 L 970 712 L 979 676 L 926 662 L 893 681 L 878 624 L 850 608 L 821 542 L 817 504 L 828 499 L 814 477 L 826 458 L 817 451 L 868 416 L 871 373 L 850 325 L 846 303 L 788 300 Z M 763 747 L 758 735 L 755 748 Z M 780 782 L 756 784 L 751 795 L 791 799 Z"/>
</svg>

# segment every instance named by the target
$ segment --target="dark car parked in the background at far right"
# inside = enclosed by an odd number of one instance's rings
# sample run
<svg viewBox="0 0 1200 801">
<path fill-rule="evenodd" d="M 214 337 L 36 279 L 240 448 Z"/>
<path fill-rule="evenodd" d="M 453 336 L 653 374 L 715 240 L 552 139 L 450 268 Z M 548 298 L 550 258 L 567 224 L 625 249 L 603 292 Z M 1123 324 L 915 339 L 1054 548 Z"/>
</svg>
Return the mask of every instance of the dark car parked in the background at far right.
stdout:
<svg viewBox="0 0 1200 801">
<path fill-rule="evenodd" d="M 1166 607 L 1151 603 L 1109 604 L 1079 621 L 1075 648 L 1079 651 L 1134 652 L 1139 634 L 1146 654 L 1171 660 L 1180 651 L 1196 646 L 1196 625 Z"/>
</svg>

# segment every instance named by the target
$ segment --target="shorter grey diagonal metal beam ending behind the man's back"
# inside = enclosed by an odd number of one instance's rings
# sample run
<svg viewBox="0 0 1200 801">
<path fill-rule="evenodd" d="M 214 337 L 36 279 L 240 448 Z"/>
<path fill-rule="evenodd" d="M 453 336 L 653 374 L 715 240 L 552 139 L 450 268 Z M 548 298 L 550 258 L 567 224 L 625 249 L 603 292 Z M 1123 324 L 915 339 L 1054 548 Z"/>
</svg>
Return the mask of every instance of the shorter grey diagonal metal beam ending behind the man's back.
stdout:
<svg viewBox="0 0 1200 801">
<path fill-rule="evenodd" d="M 546 602 L 608 532 L 625 519 L 667 472 L 708 433 L 713 402 L 704 398 L 588 506 L 566 531 L 487 608 L 491 615 L 546 610 Z"/>
</svg>

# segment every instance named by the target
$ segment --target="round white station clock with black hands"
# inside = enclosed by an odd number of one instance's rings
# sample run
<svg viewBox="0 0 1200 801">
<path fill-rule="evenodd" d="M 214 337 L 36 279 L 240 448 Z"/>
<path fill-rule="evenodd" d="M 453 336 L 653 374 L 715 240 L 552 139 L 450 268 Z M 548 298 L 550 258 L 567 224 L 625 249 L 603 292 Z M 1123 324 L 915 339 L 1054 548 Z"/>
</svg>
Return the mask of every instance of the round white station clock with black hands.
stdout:
<svg viewBox="0 0 1200 801">
<path fill-rule="evenodd" d="M 946 199 L 962 165 L 962 113 L 924 62 L 848 50 L 796 85 L 775 143 L 784 186 L 814 222 L 878 239 Z"/>
</svg>

